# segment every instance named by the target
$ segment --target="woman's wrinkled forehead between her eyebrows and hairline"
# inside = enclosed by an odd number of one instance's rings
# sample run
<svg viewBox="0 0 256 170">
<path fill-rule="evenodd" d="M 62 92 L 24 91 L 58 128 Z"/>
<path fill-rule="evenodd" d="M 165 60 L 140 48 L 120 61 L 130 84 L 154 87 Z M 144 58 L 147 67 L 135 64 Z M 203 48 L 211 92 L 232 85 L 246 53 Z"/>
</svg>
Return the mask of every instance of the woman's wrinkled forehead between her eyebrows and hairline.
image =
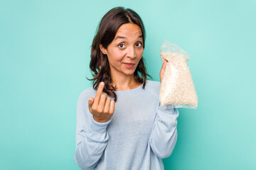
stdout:
<svg viewBox="0 0 256 170">
<path fill-rule="evenodd" d="M 139 28 L 139 26 L 137 24 L 124 23 L 117 30 L 117 33 L 116 33 L 115 37 L 117 37 L 117 35 L 129 35 L 129 36 L 134 35 L 134 36 L 137 36 L 137 35 L 141 35 L 141 34 L 142 34 L 142 30 L 141 30 L 141 28 Z"/>
</svg>

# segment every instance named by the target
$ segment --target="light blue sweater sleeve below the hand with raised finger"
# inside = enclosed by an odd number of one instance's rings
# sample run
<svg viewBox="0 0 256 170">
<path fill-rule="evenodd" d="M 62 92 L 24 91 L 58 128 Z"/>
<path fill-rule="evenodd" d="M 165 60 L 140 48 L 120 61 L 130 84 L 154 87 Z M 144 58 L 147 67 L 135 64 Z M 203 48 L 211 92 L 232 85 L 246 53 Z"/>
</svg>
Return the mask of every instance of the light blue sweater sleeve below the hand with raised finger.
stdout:
<svg viewBox="0 0 256 170">
<path fill-rule="evenodd" d="M 75 133 L 75 163 L 85 170 L 93 169 L 102 157 L 109 139 L 107 125 L 112 120 L 95 121 L 87 108 L 89 98 L 82 94 L 78 98 Z"/>
</svg>

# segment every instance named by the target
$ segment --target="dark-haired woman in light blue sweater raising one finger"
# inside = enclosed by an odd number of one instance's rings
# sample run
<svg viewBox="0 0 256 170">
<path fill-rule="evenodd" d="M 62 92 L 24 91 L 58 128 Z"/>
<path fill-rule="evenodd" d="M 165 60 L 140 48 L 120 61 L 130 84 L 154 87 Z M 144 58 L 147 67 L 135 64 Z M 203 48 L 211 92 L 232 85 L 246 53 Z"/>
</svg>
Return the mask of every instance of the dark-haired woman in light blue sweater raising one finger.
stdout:
<svg viewBox="0 0 256 170">
<path fill-rule="evenodd" d="M 116 7 L 103 16 L 92 42 L 94 88 L 78 98 L 75 162 L 81 169 L 164 169 L 161 159 L 176 145 L 178 110 L 161 108 L 159 81 L 146 79 L 144 47 L 137 13 Z M 160 81 L 165 67 L 166 61 Z"/>
</svg>

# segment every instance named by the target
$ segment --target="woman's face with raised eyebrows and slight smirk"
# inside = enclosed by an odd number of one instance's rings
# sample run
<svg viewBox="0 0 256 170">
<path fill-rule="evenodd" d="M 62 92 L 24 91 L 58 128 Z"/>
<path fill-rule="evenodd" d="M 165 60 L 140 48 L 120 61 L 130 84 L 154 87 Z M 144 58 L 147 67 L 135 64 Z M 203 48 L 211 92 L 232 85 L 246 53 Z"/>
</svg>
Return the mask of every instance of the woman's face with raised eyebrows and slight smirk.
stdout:
<svg viewBox="0 0 256 170">
<path fill-rule="evenodd" d="M 117 72 L 122 74 L 134 74 L 139 60 L 143 55 L 142 30 L 137 24 L 124 23 L 119 27 L 114 40 L 107 49 L 100 45 L 103 54 L 107 55 L 110 62 L 112 75 Z"/>
</svg>

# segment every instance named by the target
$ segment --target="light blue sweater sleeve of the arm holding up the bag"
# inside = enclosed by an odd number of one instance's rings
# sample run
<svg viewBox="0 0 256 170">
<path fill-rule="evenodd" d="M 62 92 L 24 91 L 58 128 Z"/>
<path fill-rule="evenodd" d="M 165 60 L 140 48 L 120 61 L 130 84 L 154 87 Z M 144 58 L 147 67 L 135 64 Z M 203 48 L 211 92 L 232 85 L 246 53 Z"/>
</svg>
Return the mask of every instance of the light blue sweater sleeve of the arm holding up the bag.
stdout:
<svg viewBox="0 0 256 170">
<path fill-rule="evenodd" d="M 163 108 L 160 103 L 156 109 L 156 118 L 152 128 L 149 144 L 157 157 L 169 157 L 177 141 L 177 108 Z"/>
</svg>

